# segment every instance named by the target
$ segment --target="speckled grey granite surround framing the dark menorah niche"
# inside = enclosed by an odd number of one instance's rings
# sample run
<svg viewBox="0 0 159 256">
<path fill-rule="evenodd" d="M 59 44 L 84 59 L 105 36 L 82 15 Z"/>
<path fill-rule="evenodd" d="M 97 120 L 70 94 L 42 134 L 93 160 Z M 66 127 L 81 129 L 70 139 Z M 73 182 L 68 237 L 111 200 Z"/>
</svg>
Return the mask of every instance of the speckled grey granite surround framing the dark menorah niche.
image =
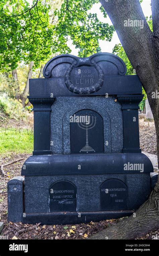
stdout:
<svg viewBox="0 0 159 256">
<path fill-rule="evenodd" d="M 70 154 L 70 116 L 82 109 L 96 111 L 103 118 L 104 153 L 122 153 L 122 110 L 115 97 L 57 97 L 51 109 L 53 154 Z"/>
</svg>

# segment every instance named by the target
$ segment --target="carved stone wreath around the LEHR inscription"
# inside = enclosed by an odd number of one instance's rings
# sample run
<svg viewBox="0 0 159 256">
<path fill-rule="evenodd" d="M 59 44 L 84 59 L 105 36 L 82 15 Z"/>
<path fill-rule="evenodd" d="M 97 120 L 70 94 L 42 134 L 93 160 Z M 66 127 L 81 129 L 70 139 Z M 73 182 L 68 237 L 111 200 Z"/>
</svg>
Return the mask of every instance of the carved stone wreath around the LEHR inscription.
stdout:
<svg viewBox="0 0 159 256">
<path fill-rule="evenodd" d="M 65 84 L 68 88 L 68 90 L 70 90 L 71 92 L 77 93 L 77 94 L 91 94 L 94 93 L 96 91 L 98 91 L 102 85 L 103 85 L 103 81 L 104 81 L 104 74 L 102 69 L 94 62 L 93 66 L 95 67 L 95 69 L 97 70 L 98 73 L 98 82 L 95 85 L 89 86 L 89 87 L 77 87 L 74 86 L 70 80 L 70 74 L 72 69 L 74 68 L 75 64 L 73 63 L 67 70 L 66 75 L 65 75 Z"/>
</svg>

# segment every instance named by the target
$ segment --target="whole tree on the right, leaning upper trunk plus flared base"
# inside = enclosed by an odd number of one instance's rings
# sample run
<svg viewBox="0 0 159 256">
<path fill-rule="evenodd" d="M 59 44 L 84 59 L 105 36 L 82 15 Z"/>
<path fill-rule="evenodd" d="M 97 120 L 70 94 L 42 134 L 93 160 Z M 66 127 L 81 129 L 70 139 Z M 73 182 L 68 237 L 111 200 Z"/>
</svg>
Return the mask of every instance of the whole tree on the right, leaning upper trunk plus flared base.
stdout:
<svg viewBox="0 0 159 256">
<path fill-rule="evenodd" d="M 100 0 L 118 34 L 125 53 L 147 93 L 154 116 L 157 135 L 157 156 L 159 162 L 159 98 L 152 97 L 159 92 L 159 1 L 152 0 L 153 32 L 151 32 L 139 0 Z M 124 26 L 126 21 L 141 21 L 140 26 Z M 142 23 L 143 22 L 143 23 Z M 107 228 L 91 239 L 133 239 L 159 228 L 159 180 L 149 200 L 137 211 L 136 218 L 130 216 Z M 108 237 L 108 238 L 106 238 Z"/>
</svg>

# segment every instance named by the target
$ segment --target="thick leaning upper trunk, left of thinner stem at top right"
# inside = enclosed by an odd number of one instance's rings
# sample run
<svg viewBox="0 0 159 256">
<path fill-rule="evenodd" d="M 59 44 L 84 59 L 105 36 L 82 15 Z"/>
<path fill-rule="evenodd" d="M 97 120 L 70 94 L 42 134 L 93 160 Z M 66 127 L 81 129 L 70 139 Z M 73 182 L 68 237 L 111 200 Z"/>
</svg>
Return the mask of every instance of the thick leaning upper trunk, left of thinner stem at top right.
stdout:
<svg viewBox="0 0 159 256">
<path fill-rule="evenodd" d="M 152 92 L 158 90 L 158 38 L 151 32 L 139 0 L 100 0 L 118 34 L 131 65 L 136 69 L 148 95 L 153 115 L 157 115 L 157 99 Z M 129 22 L 133 23 L 133 26 Z M 155 104 L 154 104 L 155 102 Z M 157 127 L 156 127 L 157 129 Z"/>
</svg>

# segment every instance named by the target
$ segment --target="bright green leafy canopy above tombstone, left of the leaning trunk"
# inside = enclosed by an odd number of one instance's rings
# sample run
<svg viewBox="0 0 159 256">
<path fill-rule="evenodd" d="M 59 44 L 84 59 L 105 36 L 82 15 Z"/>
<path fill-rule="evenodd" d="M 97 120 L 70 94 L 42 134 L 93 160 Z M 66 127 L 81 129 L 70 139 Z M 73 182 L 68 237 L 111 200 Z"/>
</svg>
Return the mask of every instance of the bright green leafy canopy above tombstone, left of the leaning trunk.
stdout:
<svg viewBox="0 0 159 256">
<path fill-rule="evenodd" d="M 63 3 L 62 3 L 63 2 Z M 99 39 L 111 40 L 113 26 L 89 10 L 97 0 L 4 0 L 0 2 L 0 69 L 13 70 L 18 62 L 34 69 L 56 54 L 70 53 L 68 38 L 85 57 L 99 50 Z M 62 4 L 62 5 L 61 5 Z M 61 6 L 61 8 L 59 7 Z M 102 9 L 104 17 L 106 13 Z"/>
</svg>

